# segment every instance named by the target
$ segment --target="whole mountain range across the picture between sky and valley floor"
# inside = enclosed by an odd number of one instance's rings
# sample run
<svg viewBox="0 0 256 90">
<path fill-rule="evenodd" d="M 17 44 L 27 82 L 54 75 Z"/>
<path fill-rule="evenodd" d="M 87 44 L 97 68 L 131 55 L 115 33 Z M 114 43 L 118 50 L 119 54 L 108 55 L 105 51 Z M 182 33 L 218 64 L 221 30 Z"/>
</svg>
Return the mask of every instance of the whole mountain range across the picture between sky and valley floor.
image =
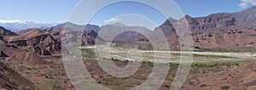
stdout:
<svg viewBox="0 0 256 90">
<path fill-rule="evenodd" d="M 254 41 L 256 38 L 255 11 L 256 7 L 252 7 L 237 13 L 210 14 L 205 17 L 193 18 L 186 15 L 181 20 L 185 19 L 189 23 L 194 42 L 193 48 L 256 48 L 256 42 Z M 178 49 L 180 48 L 178 36 L 170 20 L 174 23 L 180 21 L 170 18 L 154 31 L 142 26 L 128 26 L 120 23 L 100 27 L 66 22 L 46 29 L 32 28 L 16 32 L 1 27 L 0 43 L 4 47 L 1 52 L 15 58 L 12 53 L 8 52 L 9 50 L 5 49 L 20 50 L 23 53 L 17 53 L 16 56 L 26 59 L 29 58 L 26 56 L 29 53 L 35 53 L 34 57 L 38 57 L 37 55 L 61 54 L 61 42 L 65 39 L 63 37 L 66 37 L 66 39 L 78 37 L 74 35 L 78 34 L 75 30 L 83 31 L 79 32 L 82 36 L 82 46 L 94 45 L 98 34 L 102 33 L 102 36 L 99 37 L 102 41 L 109 41 L 108 36 L 122 32 L 114 37 L 112 42 L 119 42 L 117 45 L 120 47 L 142 49 L 152 49 L 152 46 L 146 37 L 136 31 L 141 31 L 149 36 L 154 36 L 156 31 L 162 31 L 169 42 L 170 48 Z M 71 32 L 68 32 L 69 34 L 64 32 L 64 28 Z M 102 32 L 98 33 L 99 31 Z"/>
</svg>

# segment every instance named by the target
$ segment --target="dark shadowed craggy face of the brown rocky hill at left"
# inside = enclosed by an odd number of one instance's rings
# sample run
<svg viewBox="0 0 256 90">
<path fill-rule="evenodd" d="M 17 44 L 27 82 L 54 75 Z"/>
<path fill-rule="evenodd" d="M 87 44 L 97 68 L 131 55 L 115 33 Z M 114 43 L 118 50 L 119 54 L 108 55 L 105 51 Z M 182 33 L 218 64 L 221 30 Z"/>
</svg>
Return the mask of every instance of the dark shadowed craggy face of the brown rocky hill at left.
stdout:
<svg viewBox="0 0 256 90">
<path fill-rule="evenodd" d="M 19 37 L 16 37 L 19 38 Z M 61 44 L 56 42 L 49 34 L 43 34 L 36 37 L 29 37 L 22 40 L 10 41 L 15 47 L 38 53 L 39 55 L 61 54 Z"/>
</svg>

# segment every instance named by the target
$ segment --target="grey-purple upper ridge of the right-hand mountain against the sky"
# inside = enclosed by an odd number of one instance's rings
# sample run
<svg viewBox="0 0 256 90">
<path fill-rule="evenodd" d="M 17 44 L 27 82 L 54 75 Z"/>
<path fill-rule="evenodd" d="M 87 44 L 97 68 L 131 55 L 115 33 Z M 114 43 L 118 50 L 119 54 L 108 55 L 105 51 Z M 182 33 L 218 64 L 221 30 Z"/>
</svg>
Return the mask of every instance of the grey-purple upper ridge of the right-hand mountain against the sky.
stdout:
<svg viewBox="0 0 256 90">
<path fill-rule="evenodd" d="M 185 15 L 188 21 L 188 25 L 191 31 L 214 31 L 214 30 L 230 30 L 230 29 L 241 29 L 250 28 L 256 29 L 256 7 L 248 8 L 237 13 L 218 13 L 210 14 L 205 17 L 190 17 Z M 166 20 L 160 29 L 166 34 L 175 32 L 172 23 L 170 21 L 177 22 L 179 20 L 169 19 Z M 171 34 L 166 34 L 166 37 L 171 36 Z"/>
</svg>

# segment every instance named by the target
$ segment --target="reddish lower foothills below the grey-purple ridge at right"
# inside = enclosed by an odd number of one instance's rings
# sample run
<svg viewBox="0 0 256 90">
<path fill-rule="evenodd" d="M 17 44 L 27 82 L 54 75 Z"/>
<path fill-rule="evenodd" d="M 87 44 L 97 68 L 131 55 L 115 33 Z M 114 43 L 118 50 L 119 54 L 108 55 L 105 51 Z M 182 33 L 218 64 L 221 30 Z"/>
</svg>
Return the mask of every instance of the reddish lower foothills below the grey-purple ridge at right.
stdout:
<svg viewBox="0 0 256 90">
<path fill-rule="evenodd" d="M 256 48 L 255 35 L 247 28 L 192 34 L 196 48 Z"/>
</svg>

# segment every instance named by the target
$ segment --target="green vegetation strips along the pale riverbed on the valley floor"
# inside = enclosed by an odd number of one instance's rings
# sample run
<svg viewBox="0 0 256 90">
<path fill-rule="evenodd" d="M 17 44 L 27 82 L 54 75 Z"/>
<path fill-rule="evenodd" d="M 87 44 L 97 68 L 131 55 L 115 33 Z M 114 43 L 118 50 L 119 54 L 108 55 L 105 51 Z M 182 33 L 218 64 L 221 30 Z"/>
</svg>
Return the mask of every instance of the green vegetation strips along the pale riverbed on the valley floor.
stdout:
<svg viewBox="0 0 256 90">
<path fill-rule="evenodd" d="M 73 52 L 78 52 L 79 50 L 81 51 L 81 54 L 83 57 L 89 57 L 89 58 L 95 58 L 96 53 L 93 52 L 93 48 L 72 48 Z M 125 48 L 116 48 L 117 51 L 126 51 Z M 201 49 L 201 51 L 213 51 L 213 52 L 255 52 L 256 49 L 251 49 L 251 48 L 243 48 L 243 49 Z M 108 60 L 113 60 L 113 61 L 120 61 L 122 63 L 129 63 L 127 59 L 123 59 L 122 57 L 119 57 L 118 55 L 125 55 L 124 52 L 113 52 L 114 55 L 112 56 L 112 59 Z M 171 53 L 173 59 L 178 59 L 181 54 L 180 53 Z M 153 56 L 152 56 L 153 55 Z M 154 59 L 154 52 L 144 52 L 142 53 L 143 59 Z M 140 55 L 135 54 L 134 57 L 140 57 Z M 161 56 L 157 56 L 160 57 Z M 194 57 L 194 62 L 191 64 L 192 67 L 219 67 L 219 66 L 231 66 L 231 65 L 241 65 L 245 64 L 248 61 L 240 61 L 237 60 L 238 58 L 230 57 L 230 56 L 222 56 L 222 55 L 204 55 L 204 54 L 193 54 Z M 173 60 L 172 59 L 172 60 Z M 228 60 L 226 60 L 228 59 Z M 178 60 L 177 60 L 178 61 Z M 142 61 L 142 65 L 150 65 L 154 66 L 154 63 L 150 61 Z M 156 65 L 161 65 L 161 64 L 156 64 Z M 171 67 L 178 67 L 178 63 L 170 63 Z"/>
</svg>

